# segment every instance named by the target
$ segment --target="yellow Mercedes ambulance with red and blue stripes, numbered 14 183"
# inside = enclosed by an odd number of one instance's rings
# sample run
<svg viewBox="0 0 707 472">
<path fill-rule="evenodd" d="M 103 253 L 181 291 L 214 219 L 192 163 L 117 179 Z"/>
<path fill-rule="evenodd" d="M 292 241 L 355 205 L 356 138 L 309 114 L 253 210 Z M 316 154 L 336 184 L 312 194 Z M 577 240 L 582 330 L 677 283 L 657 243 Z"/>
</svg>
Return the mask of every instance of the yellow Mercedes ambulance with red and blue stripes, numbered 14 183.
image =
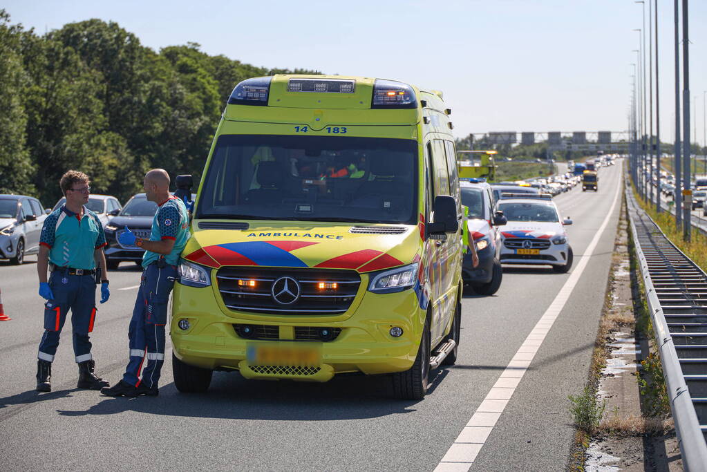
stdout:
<svg viewBox="0 0 707 472">
<path fill-rule="evenodd" d="M 442 93 L 344 76 L 250 78 L 206 161 L 173 291 L 177 389 L 214 370 L 392 374 L 421 399 L 456 360 L 462 206 Z"/>
</svg>

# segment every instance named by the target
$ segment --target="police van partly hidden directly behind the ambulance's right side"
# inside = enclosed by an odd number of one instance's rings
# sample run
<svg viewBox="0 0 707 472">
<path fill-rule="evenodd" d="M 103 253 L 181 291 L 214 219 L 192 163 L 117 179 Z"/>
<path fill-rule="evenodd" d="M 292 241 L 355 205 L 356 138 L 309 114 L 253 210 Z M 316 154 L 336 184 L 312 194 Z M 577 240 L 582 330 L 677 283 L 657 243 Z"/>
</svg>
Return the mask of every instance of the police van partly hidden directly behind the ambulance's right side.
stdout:
<svg viewBox="0 0 707 472">
<path fill-rule="evenodd" d="M 501 232 L 506 224 L 503 214 L 493 211 L 493 191 L 485 179 L 460 179 L 462 205 L 469 208 L 467 231 L 474 241 L 479 265 L 472 263 L 471 249 L 466 248 L 462 262 L 462 280 L 479 295 L 493 295 L 501 287 Z"/>
</svg>

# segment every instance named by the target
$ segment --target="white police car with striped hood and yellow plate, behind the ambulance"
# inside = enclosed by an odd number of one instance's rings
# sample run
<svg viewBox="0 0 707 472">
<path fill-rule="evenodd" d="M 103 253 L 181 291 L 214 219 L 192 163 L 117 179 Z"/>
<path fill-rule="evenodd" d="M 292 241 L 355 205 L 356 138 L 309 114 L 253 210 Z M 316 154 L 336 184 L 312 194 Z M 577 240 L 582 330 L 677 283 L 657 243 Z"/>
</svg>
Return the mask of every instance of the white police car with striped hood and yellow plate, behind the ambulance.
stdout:
<svg viewBox="0 0 707 472">
<path fill-rule="evenodd" d="M 565 225 L 549 194 L 503 194 L 496 204 L 506 225 L 501 231 L 501 264 L 549 264 L 555 272 L 569 271 L 573 262 Z"/>
</svg>

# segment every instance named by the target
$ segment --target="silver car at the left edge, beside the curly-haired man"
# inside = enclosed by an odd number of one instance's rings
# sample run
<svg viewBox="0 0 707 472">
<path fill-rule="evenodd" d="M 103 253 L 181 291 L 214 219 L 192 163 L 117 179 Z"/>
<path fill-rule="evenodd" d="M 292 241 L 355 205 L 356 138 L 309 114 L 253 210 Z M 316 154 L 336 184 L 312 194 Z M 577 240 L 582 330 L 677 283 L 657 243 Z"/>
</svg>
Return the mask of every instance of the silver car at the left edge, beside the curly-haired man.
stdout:
<svg viewBox="0 0 707 472">
<path fill-rule="evenodd" d="M 0 259 L 18 265 L 37 254 L 47 213 L 33 196 L 0 194 Z"/>
</svg>

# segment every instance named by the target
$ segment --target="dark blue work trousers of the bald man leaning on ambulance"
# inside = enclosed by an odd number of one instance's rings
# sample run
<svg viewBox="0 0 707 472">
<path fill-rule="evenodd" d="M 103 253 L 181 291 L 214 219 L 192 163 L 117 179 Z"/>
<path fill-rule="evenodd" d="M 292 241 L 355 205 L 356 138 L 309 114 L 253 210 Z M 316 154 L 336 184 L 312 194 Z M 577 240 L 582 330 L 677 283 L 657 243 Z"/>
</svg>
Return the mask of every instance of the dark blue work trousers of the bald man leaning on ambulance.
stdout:
<svg viewBox="0 0 707 472">
<path fill-rule="evenodd" d="M 159 265 L 164 265 L 160 267 Z M 165 363 L 165 324 L 167 302 L 177 278 L 177 268 L 166 264 L 150 264 L 142 272 L 133 316 L 128 331 L 130 360 L 123 380 L 138 386 L 157 387 L 160 370 Z M 140 370 L 147 359 L 147 365 Z"/>
</svg>

